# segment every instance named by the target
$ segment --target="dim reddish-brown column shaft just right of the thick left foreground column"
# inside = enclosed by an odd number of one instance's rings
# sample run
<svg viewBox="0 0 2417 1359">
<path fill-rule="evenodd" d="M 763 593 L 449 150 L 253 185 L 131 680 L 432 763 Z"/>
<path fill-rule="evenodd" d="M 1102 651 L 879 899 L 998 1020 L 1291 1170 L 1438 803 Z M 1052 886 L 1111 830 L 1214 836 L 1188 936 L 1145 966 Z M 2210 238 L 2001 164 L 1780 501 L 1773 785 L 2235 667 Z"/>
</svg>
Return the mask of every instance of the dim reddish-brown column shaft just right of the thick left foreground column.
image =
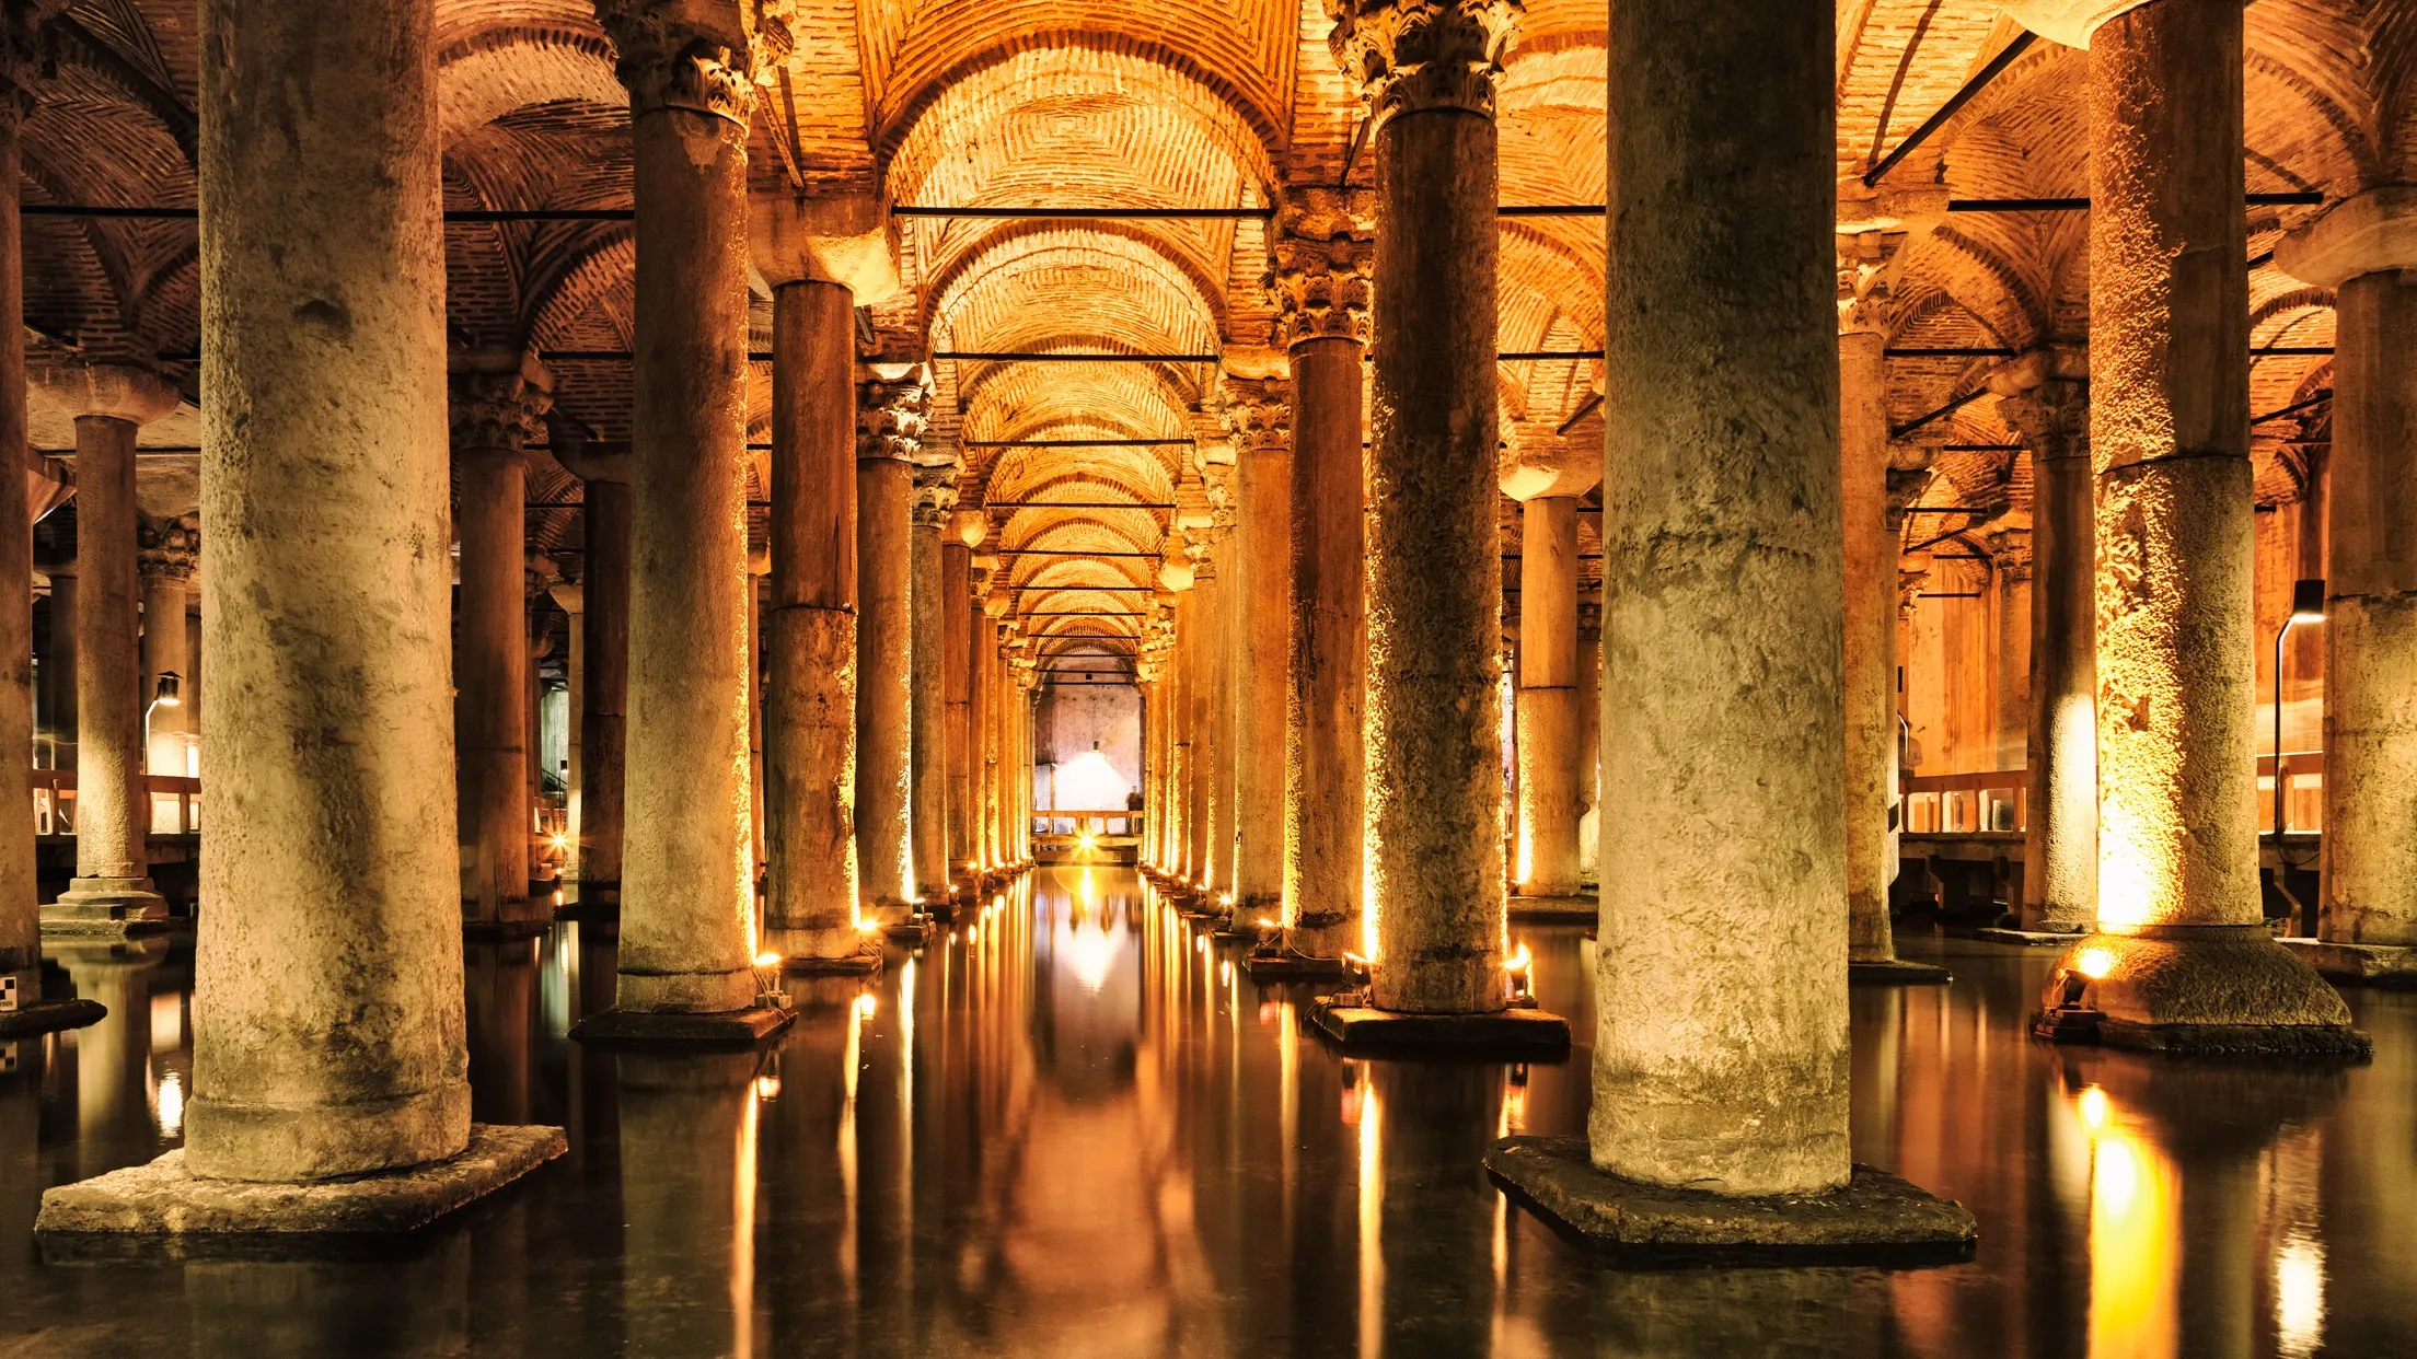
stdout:
<svg viewBox="0 0 2417 1359">
<path fill-rule="evenodd" d="M 520 450 L 462 450 L 462 588 L 454 621 L 454 783 L 462 912 L 529 916 L 529 614 Z"/>
</svg>

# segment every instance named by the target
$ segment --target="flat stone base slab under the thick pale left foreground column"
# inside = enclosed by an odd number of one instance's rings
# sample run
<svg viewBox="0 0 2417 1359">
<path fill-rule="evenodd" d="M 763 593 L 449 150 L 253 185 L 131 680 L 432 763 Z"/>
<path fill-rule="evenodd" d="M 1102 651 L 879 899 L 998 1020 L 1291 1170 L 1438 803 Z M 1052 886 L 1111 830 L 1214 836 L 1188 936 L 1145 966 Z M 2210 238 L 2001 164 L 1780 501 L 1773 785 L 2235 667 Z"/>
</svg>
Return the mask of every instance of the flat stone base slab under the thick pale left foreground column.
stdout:
<svg viewBox="0 0 2417 1359">
<path fill-rule="evenodd" d="M 210 1236 L 358 1236 L 396 1233 L 491 1195 L 568 1151 L 558 1127 L 471 1124 L 469 1146 L 452 1161 L 382 1175 L 312 1185 L 203 1180 L 184 1168 L 184 1149 L 145 1166 L 111 1170 L 41 1195 L 34 1231 L 46 1257 L 77 1257 L 80 1248 L 123 1250 L 92 1238 Z"/>
</svg>

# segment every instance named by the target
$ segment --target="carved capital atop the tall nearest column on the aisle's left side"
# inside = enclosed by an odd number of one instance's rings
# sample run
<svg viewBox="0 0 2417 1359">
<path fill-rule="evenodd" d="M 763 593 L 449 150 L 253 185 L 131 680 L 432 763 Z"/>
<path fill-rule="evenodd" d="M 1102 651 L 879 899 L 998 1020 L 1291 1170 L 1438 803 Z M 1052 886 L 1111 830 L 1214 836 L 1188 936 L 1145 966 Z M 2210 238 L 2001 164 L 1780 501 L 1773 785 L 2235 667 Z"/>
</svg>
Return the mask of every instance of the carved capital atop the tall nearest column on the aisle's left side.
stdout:
<svg viewBox="0 0 2417 1359">
<path fill-rule="evenodd" d="M 747 126 L 757 85 L 798 48 L 795 0 L 595 0 L 631 111 L 686 109 Z"/>
</svg>

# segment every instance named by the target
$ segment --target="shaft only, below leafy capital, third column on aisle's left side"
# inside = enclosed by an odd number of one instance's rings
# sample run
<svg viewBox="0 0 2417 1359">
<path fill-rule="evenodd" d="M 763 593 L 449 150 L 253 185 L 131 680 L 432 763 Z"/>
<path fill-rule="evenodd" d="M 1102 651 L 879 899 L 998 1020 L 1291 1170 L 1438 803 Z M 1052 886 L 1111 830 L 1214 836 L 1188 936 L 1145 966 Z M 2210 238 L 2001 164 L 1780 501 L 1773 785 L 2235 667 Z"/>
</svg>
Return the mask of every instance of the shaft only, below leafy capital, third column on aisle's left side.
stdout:
<svg viewBox="0 0 2417 1359">
<path fill-rule="evenodd" d="M 904 921 L 914 900 L 914 464 L 856 462 L 856 892 Z"/>
</svg>

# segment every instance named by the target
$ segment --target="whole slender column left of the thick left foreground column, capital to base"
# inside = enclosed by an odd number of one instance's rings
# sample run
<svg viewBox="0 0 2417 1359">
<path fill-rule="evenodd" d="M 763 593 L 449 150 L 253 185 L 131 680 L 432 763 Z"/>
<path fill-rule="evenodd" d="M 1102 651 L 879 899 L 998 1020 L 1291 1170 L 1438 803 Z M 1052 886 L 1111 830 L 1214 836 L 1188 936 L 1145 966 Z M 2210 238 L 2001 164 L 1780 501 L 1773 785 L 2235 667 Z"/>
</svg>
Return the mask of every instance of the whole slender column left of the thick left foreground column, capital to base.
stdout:
<svg viewBox="0 0 2417 1359">
<path fill-rule="evenodd" d="M 44 907 L 51 929 L 164 919 L 143 834 L 143 663 L 135 655 L 135 430 L 176 409 L 176 389 L 128 365 L 36 375 L 75 411 L 75 880 Z"/>
</svg>

